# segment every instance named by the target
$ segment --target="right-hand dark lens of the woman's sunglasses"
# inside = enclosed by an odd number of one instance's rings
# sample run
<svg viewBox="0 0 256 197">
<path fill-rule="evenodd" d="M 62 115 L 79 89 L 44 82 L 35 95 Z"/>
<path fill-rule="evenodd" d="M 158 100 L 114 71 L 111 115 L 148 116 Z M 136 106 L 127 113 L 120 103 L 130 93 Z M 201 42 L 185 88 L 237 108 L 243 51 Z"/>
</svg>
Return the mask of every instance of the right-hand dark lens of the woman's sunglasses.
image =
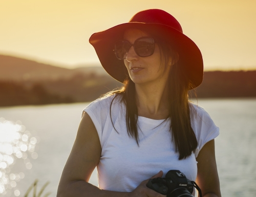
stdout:
<svg viewBox="0 0 256 197">
<path fill-rule="evenodd" d="M 134 49 L 140 57 L 151 56 L 154 53 L 154 39 L 140 38 L 134 43 Z"/>
</svg>

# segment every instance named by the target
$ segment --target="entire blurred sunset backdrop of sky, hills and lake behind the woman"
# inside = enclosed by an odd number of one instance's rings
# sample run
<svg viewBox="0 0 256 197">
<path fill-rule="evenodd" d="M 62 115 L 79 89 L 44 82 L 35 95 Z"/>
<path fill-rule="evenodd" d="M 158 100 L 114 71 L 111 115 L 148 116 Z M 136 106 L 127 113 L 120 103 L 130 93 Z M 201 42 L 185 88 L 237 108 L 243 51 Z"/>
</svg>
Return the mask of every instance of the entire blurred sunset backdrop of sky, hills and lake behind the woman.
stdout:
<svg viewBox="0 0 256 197">
<path fill-rule="evenodd" d="M 0 0 L 0 196 L 24 196 L 36 179 L 37 192 L 49 181 L 43 193 L 56 196 L 83 108 L 121 87 L 90 36 L 152 8 L 172 14 L 202 52 L 204 81 L 191 99 L 220 127 L 222 195 L 255 196 L 254 0 Z"/>
</svg>

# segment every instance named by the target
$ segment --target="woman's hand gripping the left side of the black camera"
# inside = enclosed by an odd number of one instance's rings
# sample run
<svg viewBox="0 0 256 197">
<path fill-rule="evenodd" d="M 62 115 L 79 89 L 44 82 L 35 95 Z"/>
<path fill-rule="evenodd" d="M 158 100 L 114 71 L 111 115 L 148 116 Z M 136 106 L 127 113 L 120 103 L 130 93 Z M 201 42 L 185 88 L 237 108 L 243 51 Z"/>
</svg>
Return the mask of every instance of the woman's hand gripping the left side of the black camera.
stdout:
<svg viewBox="0 0 256 197">
<path fill-rule="evenodd" d="M 163 176 L 163 171 L 159 171 L 158 174 L 154 175 L 150 179 L 154 178 L 161 178 Z M 133 190 L 131 193 L 129 193 L 129 197 L 166 197 L 166 195 L 163 195 L 161 193 L 158 193 L 154 191 L 153 189 L 150 189 L 146 186 L 148 180 L 142 181 L 141 184 Z"/>
</svg>

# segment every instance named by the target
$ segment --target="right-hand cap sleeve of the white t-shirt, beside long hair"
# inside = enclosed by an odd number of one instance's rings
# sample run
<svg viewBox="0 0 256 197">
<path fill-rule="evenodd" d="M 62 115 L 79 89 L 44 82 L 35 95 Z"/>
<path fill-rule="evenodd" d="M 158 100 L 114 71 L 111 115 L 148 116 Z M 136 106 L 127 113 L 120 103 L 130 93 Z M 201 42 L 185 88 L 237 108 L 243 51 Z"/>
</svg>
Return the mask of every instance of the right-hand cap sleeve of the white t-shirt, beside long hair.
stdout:
<svg viewBox="0 0 256 197">
<path fill-rule="evenodd" d="M 200 150 L 208 141 L 216 138 L 219 134 L 219 127 L 217 127 L 210 115 L 201 107 L 193 105 L 194 109 L 191 111 L 191 127 L 193 128 L 198 141 L 198 147 L 195 152 L 197 157 Z"/>
</svg>

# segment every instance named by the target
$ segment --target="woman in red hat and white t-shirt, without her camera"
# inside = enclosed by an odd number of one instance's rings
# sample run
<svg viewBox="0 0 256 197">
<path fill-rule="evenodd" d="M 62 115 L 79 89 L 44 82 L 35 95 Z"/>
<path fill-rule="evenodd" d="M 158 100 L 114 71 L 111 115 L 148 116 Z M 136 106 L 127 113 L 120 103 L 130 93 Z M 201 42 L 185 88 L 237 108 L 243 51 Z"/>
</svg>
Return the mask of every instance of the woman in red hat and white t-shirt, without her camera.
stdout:
<svg viewBox="0 0 256 197">
<path fill-rule="evenodd" d="M 188 102 L 203 79 L 197 45 L 165 11 L 137 13 L 90 38 L 104 69 L 124 87 L 83 111 L 58 196 L 164 196 L 148 179 L 180 170 L 203 196 L 221 196 L 210 116 Z M 99 188 L 88 183 L 95 166 Z"/>
</svg>

